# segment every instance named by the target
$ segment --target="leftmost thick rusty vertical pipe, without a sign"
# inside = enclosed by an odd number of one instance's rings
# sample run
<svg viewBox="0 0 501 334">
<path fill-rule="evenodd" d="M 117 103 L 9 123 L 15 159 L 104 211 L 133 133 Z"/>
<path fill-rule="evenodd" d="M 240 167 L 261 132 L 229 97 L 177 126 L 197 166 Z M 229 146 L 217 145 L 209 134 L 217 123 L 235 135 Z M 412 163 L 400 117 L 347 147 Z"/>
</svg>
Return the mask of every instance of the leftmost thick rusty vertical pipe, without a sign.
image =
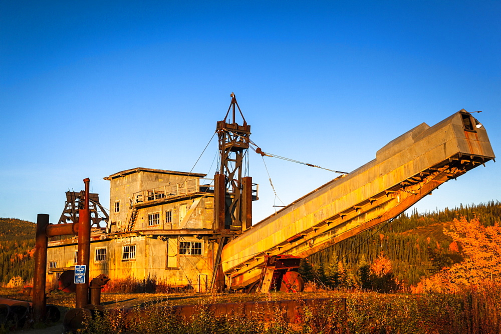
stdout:
<svg viewBox="0 0 501 334">
<path fill-rule="evenodd" d="M 47 243 L 49 238 L 45 234 L 45 230 L 48 225 L 49 215 L 39 213 L 35 238 L 35 277 L 33 279 L 33 319 L 35 322 L 44 320 L 46 315 L 45 280 L 47 277 Z"/>
</svg>

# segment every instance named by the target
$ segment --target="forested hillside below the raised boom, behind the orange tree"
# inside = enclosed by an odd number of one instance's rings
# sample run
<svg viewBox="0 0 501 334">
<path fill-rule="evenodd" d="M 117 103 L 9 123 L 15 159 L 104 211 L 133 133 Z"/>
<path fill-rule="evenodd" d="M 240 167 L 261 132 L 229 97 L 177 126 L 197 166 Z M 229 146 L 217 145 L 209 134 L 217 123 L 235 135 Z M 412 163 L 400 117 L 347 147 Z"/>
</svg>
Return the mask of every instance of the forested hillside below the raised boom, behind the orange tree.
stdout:
<svg viewBox="0 0 501 334">
<path fill-rule="evenodd" d="M 453 209 L 411 214 L 402 213 L 391 222 L 375 226 L 359 235 L 311 255 L 313 276 L 337 285 L 351 285 L 369 273 L 372 264 L 389 266 L 389 271 L 403 285 L 417 283 L 444 266 L 462 260 L 460 245 L 443 234 L 454 218 L 478 217 L 485 226 L 501 221 L 501 203 L 490 201 Z M 303 264 L 303 269 L 305 270 Z M 306 268 L 308 270 L 308 268 Z M 388 271 L 388 268 L 385 269 Z M 367 272 L 366 272 L 367 271 Z M 346 278 L 339 278 L 346 276 Z M 346 281 L 348 280 L 348 281 Z M 336 282 L 335 284 L 336 285 Z"/>
</svg>

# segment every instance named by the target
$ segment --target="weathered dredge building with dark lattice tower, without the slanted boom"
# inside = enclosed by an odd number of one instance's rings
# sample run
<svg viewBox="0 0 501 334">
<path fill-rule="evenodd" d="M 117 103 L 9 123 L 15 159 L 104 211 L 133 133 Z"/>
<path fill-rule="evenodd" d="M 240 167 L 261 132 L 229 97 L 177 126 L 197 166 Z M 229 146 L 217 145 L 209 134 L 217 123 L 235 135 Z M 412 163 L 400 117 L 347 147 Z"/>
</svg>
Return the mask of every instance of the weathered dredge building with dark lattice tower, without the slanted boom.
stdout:
<svg viewBox="0 0 501 334">
<path fill-rule="evenodd" d="M 215 284 L 216 257 L 220 257 L 223 243 L 252 225 L 251 202 L 258 199 L 257 184 L 242 176 L 250 126 L 245 120 L 244 125 L 235 122 L 235 105 L 232 96 L 228 109 L 228 113 L 233 111 L 232 123 L 226 117 L 217 122 L 222 162 L 213 179 L 203 178 L 205 174 L 150 168 L 132 168 L 104 178 L 110 181 L 109 216 L 98 195 L 90 195 L 94 204 L 90 277 L 149 276 L 199 292 Z M 220 190 L 219 200 L 214 198 L 214 186 Z M 67 193 L 60 223 L 78 221 L 81 200 L 80 193 Z M 99 208 L 104 217 L 97 214 Z M 102 220 L 106 227 L 99 227 Z M 77 242 L 73 235 L 49 241 L 48 280 L 55 281 L 64 270 L 74 269 Z M 219 279 L 224 281 L 221 275 Z"/>
</svg>

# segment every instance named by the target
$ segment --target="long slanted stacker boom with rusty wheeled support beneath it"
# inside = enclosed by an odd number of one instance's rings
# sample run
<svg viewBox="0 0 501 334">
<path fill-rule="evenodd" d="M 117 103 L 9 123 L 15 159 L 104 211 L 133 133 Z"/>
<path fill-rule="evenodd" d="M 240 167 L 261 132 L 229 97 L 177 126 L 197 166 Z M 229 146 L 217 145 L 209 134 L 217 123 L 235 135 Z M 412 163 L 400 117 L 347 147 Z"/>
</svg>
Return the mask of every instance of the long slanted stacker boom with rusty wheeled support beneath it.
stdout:
<svg viewBox="0 0 501 334">
<path fill-rule="evenodd" d="M 270 258 L 306 257 L 394 218 L 440 184 L 491 159 L 485 128 L 466 110 L 431 127 L 421 123 L 378 150 L 374 160 L 228 242 L 221 252 L 226 285 L 250 289 L 258 284 L 262 292 L 272 281 L 300 286 L 299 276 L 284 279 L 287 271 L 271 266 Z"/>
</svg>

